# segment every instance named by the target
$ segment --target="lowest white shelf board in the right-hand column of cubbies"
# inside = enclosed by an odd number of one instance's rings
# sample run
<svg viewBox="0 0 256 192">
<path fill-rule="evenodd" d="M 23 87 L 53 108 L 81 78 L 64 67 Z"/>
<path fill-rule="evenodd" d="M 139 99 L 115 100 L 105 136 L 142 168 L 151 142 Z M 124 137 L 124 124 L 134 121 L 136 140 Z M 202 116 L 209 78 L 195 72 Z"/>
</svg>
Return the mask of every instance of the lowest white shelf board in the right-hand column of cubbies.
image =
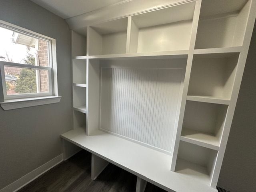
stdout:
<svg viewBox="0 0 256 192">
<path fill-rule="evenodd" d="M 196 144 L 213 150 L 219 150 L 220 148 L 220 141 L 214 135 L 186 128 L 182 128 L 181 135 L 180 140 L 184 142 Z"/>
</svg>

